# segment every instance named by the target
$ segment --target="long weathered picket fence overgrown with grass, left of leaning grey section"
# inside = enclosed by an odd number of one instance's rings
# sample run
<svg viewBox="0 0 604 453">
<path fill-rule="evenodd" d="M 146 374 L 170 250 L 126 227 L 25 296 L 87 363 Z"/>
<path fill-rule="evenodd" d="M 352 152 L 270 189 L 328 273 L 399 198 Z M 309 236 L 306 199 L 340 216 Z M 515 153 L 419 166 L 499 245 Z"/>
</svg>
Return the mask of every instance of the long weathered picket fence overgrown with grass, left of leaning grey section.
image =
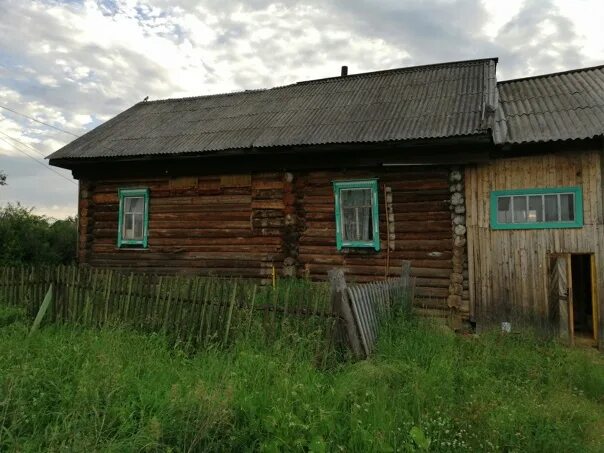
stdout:
<svg viewBox="0 0 604 453">
<path fill-rule="evenodd" d="M 278 335 L 333 329 L 329 287 L 280 280 L 273 288 L 242 279 L 157 276 L 91 267 L 0 268 L 0 303 L 35 316 L 52 284 L 45 322 L 125 324 L 194 345 L 226 344 L 253 325 Z"/>
</svg>

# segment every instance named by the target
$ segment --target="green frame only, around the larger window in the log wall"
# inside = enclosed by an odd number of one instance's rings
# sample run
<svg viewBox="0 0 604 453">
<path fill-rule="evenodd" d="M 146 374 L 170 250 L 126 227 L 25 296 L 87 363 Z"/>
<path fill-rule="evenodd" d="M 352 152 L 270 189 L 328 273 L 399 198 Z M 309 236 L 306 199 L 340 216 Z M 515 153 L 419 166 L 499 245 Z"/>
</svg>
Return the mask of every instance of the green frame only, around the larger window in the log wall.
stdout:
<svg viewBox="0 0 604 453">
<path fill-rule="evenodd" d="M 344 237 L 344 211 L 342 206 L 342 191 L 351 189 L 371 190 L 371 238 L 366 241 L 347 240 Z M 378 209 L 378 183 L 377 179 L 362 179 L 354 181 L 333 181 L 336 214 L 336 246 L 343 248 L 373 248 L 380 250 L 380 219 Z"/>
</svg>

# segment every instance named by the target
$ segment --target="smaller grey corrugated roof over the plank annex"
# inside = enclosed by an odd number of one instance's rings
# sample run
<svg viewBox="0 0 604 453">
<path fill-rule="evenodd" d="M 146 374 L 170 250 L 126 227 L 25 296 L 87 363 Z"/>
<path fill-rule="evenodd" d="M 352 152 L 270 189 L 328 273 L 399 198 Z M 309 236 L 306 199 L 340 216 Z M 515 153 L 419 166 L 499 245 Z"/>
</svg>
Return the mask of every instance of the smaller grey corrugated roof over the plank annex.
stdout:
<svg viewBox="0 0 604 453">
<path fill-rule="evenodd" d="M 604 134 L 604 65 L 499 82 L 498 144 L 586 139 Z"/>
</svg>

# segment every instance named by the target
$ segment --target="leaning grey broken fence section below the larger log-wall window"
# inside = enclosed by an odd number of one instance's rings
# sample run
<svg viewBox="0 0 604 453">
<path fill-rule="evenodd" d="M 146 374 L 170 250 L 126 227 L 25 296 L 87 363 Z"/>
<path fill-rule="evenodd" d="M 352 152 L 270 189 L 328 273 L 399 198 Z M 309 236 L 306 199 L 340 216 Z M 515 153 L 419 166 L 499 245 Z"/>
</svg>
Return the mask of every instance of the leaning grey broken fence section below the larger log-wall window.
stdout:
<svg viewBox="0 0 604 453">
<path fill-rule="evenodd" d="M 344 272 L 330 273 L 332 305 L 344 320 L 349 348 L 359 357 L 374 350 L 382 323 L 397 308 L 409 308 L 414 297 L 415 281 L 409 261 L 403 261 L 401 276 L 384 281 L 348 285 Z"/>
</svg>

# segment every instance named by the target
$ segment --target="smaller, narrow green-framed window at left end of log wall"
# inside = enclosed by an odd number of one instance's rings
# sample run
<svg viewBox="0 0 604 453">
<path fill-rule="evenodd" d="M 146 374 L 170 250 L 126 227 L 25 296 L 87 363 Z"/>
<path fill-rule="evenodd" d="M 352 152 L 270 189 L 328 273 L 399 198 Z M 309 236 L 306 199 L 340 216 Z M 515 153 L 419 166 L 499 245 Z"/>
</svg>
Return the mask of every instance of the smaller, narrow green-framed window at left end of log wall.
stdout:
<svg viewBox="0 0 604 453">
<path fill-rule="evenodd" d="M 147 247 L 149 190 L 120 189 L 118 247 Z"/>
</svg>

